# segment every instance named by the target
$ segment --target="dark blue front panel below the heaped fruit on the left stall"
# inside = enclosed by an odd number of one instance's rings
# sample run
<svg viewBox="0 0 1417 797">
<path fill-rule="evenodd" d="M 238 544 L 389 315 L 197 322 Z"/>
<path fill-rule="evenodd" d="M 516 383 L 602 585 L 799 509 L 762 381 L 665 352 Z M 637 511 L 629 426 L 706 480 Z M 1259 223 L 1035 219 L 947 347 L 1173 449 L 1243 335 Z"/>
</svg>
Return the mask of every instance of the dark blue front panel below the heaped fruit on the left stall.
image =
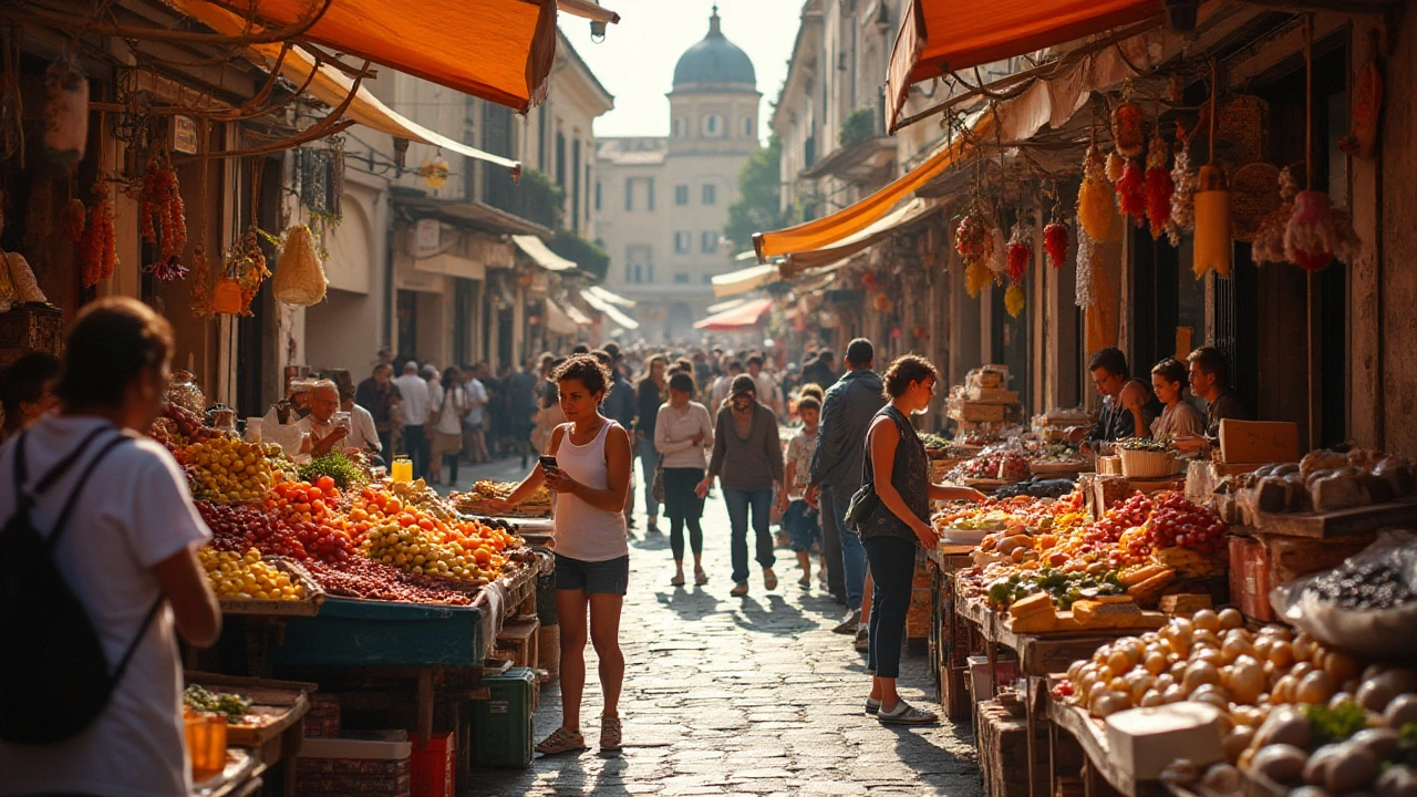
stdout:
<svg viewBox="0 0 1417 797">
<path fill-rule="evenodd" d="M 480 667 L 482 610 L 332 597 L 286 620 L 276 667 Z"/>
</svg>

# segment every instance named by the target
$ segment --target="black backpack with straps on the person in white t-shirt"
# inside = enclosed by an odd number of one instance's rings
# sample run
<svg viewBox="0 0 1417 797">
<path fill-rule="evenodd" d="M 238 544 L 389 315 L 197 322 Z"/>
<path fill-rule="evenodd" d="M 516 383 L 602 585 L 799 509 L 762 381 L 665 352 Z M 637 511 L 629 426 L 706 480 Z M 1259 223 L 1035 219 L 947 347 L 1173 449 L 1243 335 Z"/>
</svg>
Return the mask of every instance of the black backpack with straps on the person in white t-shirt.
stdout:
<svg viewBox="0 0 1417 797">
<path fill-rule="evenodd" d="M 30 519 L 34 502 L 89 450 L 108 427 L 95 430 L 33 492 L 20 435 L 14 447 L 16 512 L 0 528 L 0 742 L 52 745 L 77 736 L 108 706 L 128 662 L 147 632 L 162 598 L 149 610 L 137 637 L 112 672 L 103 644 L 84 604 L 64 581 L 54 550 L 78 495 L 98 464 L 129 438 L 113 434 L 81 472 L 48 539 Z"/>
</svg>

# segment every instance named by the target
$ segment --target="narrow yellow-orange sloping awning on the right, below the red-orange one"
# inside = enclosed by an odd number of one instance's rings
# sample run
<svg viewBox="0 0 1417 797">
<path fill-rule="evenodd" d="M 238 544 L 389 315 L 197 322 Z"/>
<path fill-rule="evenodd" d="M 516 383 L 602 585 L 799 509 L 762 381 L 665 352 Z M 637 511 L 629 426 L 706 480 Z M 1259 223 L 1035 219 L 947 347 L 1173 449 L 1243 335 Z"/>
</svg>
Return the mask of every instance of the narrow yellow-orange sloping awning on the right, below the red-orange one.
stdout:
<svg viewBox="0 0 1417 797">
<path fill-rule="evenodd" d="M 995 113 L 979 115 L 972 125 L 973 135 L 992 140 L 995 119 Z M 965 143 L 965 139 L 956 136 L 924 163 L 850 207 L 786 230 L 755 234 L 752 245 L 758 251 L 758 261 L 765 262 L 769 257 L 820 250 L 866 230 L 890 213 L 903 199 L 958 163 L 968 149 L 969 145 Z"/>
</svg>

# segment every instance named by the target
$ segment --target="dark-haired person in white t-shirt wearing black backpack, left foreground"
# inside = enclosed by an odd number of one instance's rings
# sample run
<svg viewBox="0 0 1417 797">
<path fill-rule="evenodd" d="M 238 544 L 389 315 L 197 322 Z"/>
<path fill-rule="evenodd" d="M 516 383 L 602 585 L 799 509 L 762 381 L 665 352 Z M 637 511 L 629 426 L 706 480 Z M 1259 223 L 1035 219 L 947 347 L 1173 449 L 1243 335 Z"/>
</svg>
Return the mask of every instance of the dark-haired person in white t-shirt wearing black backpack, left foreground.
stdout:
<svg viewBox="0 0 1417 797">
<path fill-rule="evenodd" d="M 171 325 L 98 299 L 65 352 L 60 413 L 0 450 L 0 796 L 186 797 L 177 637 L 214 644 L 221 613 L 197 560 L 211 532 L 145 437 Z"/>
</svg>

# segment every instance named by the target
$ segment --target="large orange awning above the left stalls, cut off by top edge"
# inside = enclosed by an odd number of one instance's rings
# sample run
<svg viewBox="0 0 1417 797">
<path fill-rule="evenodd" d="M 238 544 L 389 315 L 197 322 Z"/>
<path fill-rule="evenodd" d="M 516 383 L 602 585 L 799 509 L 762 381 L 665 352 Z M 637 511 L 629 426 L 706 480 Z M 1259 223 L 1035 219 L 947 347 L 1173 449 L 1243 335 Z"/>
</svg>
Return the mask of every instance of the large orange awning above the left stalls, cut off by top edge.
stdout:
<svg viewBox="0 0 1417 797">
<path fill-rule="evenodd" d="M 309 20 L 326 0 L 200 0 L 262 28 Z M 329 0 L 298 38 L 526 112 L 555 61 L 554 0 Z"/>
</svg>

